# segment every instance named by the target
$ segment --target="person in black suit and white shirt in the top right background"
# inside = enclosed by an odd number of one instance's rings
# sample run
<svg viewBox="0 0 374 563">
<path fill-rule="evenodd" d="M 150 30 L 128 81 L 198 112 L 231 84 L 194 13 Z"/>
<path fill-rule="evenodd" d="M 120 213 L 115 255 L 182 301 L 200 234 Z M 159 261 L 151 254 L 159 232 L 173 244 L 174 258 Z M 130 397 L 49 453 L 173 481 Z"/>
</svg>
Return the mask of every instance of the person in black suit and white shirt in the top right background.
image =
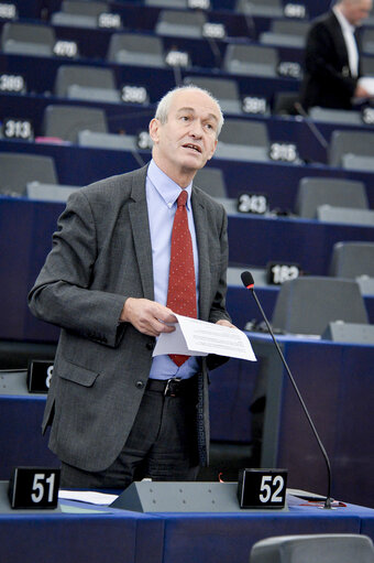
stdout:
<svg viewBox="0 0 374 563">
<path fill-rule="evenodd" d="M 300 102 L 351 109 L 353 98 L 366 98 L 360 86 L 360 43 L 356 28 L 369 17 L 373 0 L 340 0 L 312 23 L 306 44 Z"/>
</svg>

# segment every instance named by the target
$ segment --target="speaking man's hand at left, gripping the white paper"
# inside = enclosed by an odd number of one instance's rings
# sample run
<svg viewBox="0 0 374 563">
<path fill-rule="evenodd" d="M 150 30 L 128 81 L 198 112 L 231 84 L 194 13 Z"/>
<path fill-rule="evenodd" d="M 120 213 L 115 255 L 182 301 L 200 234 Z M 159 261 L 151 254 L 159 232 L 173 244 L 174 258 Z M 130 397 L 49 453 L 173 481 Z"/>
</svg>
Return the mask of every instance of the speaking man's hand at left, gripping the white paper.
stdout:
<svg viewBox="0 0 374 563">
<path fill-rule="evenodd" d="M 176 323 L 173 311 L 155 301 L 147 299 L 127 299 L 120 322 L 131 323 L 139 332 L 148 336 L 160 336 L 161 333 L 173 333 L 174 326 L 165 323 Z"/>
</svg>

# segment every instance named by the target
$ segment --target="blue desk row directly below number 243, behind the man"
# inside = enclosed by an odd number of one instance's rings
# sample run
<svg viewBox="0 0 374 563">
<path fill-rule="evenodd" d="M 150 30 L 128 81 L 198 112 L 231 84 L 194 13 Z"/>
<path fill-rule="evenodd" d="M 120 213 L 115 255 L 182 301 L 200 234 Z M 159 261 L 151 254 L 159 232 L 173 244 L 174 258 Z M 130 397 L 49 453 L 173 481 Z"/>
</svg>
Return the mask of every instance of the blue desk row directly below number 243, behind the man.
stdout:
<svg viewBox="0 0 374 563">
<path fill-rule="evenodd" d="M 0 198 L 0 288 L 7 295 L 0 338 L 56 338 L 56 331 L 29 313 L 26 295 L 51 249 L 63 208 L 56 203 Z M 326 275 L 337 242 L 372 241 L 373 235 L 374 227 L 230 214 L 229 258 L 243 269 L 246 264 L 265 268 L 271 260 L 292 261 L 309 274 Z M 243 318 L 239 321 L 242 324 Z"/>
</svg>

